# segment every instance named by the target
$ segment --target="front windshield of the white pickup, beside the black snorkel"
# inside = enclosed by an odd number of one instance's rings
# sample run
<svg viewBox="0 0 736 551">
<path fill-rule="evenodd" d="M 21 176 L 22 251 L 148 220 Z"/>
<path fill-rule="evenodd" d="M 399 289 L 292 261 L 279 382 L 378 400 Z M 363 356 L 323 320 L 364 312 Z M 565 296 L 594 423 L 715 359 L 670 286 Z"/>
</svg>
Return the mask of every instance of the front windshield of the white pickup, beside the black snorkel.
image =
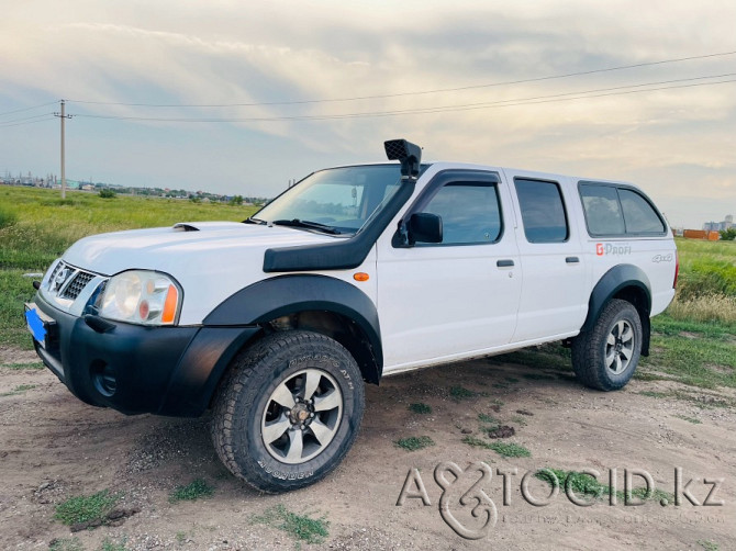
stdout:
<svg viewBox="0 0 736 551">
<path fill-rule="evenodd" d="M 250 220 L 330 234 L 355 234 L 400 184 L 399 165 L 321 170 L 276 198 Z"/>
</svg>

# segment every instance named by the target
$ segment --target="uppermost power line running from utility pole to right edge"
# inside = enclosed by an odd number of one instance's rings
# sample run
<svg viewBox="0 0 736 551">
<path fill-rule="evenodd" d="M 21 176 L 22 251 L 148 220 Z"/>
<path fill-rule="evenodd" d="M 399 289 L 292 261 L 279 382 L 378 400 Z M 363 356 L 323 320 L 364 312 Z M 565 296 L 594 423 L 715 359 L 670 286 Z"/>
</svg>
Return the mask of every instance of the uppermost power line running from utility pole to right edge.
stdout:
<svg viewBox="0 0 736 551">
<path fill-rule="evenodd" d="M 594 75 L 600 72 L 612 72 L 625 69 L 635 69 L 640 67 L 653 67 L 656 65 L 665 64 L 674 64 L 681 61 L 691 61 L 695 59 L 707 59 L 714 57 L 731 56 L 736 54 L 734 52 L 722 52 L 717 54 L 705 54 L 701 56 L 689 56 L 689 57 L 679 57 L 673 59 L 661 59 L 658 61 L 645 61 L 634 65 L 621 65 L 617 67 L 606 67 L 602 69 L 591 69 L 586 71 L 576 71 L 567 72 L 562 75 L 550 75 L 546 77 L 528 78 L 521 80 L 509 80 L 503 82 L 491 82 L 486 85 L 473 85 L 473 86 L 464 86 L 457 88 L 437 88 L 434 90 L 421 90 L 413 92 L 398 92 L 398 93 L 384 93 L 376 95 L 358 95 L 354 98 L 333 98 L 333 99 L 316 99 L 316 100 L 301 100 L 301 101 L 268 101 L 268 102 L 250 102 L 250 103 L 213 103 L 213 104 L 176 104 L 176 103 L 122 103 L 122 102 L 107 102 L 107 101 L 86 101 L 86 100 L 68 100 L 69 103 L 85 103 L 85 104 L 94 104 L 94 105 L 121 105 L 121 106 L 135 106 L 135 108 L 248 108 L 248 106 L 261 106 L 261 105 L 301 105 L 309 103 L 331 103 L 331 102 L 347 102 L 347 101 L 358 101 L 358 100 L 376 100 L 376 99 L 388 99 L 388 98 L 401 98 L 405 95 L 426 95 L 432 93 L 444 93 L 444 92 L 459 92 L 465 90 L 476 90 L 480 88 L 492 88 L 500 86 L 511 86 L 511 85 L 522 85 L 528 82 L 540 82 L 544 80 L 555 80 L 564 79 L 570 77 L 581 77 L 586 75 Z"/>
</svg>

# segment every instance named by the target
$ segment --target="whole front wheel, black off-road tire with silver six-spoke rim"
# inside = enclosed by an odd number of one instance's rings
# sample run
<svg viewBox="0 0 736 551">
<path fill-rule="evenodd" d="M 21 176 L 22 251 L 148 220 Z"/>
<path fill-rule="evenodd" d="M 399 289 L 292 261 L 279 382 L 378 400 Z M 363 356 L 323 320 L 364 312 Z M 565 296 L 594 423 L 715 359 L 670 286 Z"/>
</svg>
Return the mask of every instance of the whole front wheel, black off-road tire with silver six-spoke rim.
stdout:
<svg viewBox="0 0 736 551">
<path fill-rule="evenodd" d="M 233 362 L 212 438 L 237 477 L 268 493 L 313 484 L 350 449 L 365 405 L 360 370 L 337 341 L 277 333 Z"/>
</svg>

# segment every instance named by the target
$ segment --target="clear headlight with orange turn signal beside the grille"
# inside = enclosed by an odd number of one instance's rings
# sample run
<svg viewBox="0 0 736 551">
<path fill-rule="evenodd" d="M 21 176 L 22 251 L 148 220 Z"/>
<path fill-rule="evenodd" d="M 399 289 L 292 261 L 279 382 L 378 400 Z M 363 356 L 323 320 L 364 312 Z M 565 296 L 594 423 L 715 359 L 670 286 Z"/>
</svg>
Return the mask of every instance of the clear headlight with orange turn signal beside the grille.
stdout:
<svg viewBox="0 0 736 551">
<path fill-rule="evenodd" d="M 180 303 L 179 286 L 171 278 L 131 270 L 110 278 L 99 303 L 99 315 L 132 324 L 172 325 Z"/>
</svg>

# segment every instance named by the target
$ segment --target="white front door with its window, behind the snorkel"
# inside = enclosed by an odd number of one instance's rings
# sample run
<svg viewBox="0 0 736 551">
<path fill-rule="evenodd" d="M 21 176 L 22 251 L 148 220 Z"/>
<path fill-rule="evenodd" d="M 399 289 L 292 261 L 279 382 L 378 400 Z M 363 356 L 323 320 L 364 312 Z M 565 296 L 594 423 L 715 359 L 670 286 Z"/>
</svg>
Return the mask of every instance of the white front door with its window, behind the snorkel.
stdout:
<svg viewBox="0 0 736 551">
<path fill-rule="evenodd" d="M 378 241 L 378 305 L 384 369 L 470 357 L 510 342 L 521 263 L 511 196 L 495 172 L 449 170 L 405 212 L 443 221 L 443 240 Z"/>
</svg>

